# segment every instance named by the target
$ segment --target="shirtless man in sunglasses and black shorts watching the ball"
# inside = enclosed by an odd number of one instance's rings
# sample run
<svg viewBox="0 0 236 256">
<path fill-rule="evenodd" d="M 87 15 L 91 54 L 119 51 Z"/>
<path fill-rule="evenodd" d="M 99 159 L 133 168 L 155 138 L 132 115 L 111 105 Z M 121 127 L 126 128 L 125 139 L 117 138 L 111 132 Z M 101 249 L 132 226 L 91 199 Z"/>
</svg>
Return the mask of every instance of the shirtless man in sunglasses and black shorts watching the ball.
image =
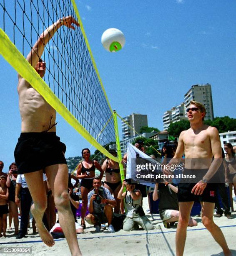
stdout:
<svg viewBox="0 0 236 256">
<path fill-rule="evenodd" d="M 206 109 L 200 102 L 191 101 L 187 108 L 191 128 L 181 132 L 176 154 L 168 163 L 179 164 L 185 153 L 185 169 L 183 174 L 193 174 L 198 182 L 180 183 L 178 186 L 179 220 L 176 231 L 176 255 L 183 255 L 186 230 L 190 212 L 195 200 L 202 206 L 202 223 L 223 249 L 225 255 L 231 255 L 221 229 L 213 222 L 215 206 L 214 184 L 208 183 L 221 165 L 221 142 L 216 128 L 203 124 Z M 214 160 L 212 161 L 212 157 Z M 166 170 L 165 174 L 169 174 Z"/>
</svg>

